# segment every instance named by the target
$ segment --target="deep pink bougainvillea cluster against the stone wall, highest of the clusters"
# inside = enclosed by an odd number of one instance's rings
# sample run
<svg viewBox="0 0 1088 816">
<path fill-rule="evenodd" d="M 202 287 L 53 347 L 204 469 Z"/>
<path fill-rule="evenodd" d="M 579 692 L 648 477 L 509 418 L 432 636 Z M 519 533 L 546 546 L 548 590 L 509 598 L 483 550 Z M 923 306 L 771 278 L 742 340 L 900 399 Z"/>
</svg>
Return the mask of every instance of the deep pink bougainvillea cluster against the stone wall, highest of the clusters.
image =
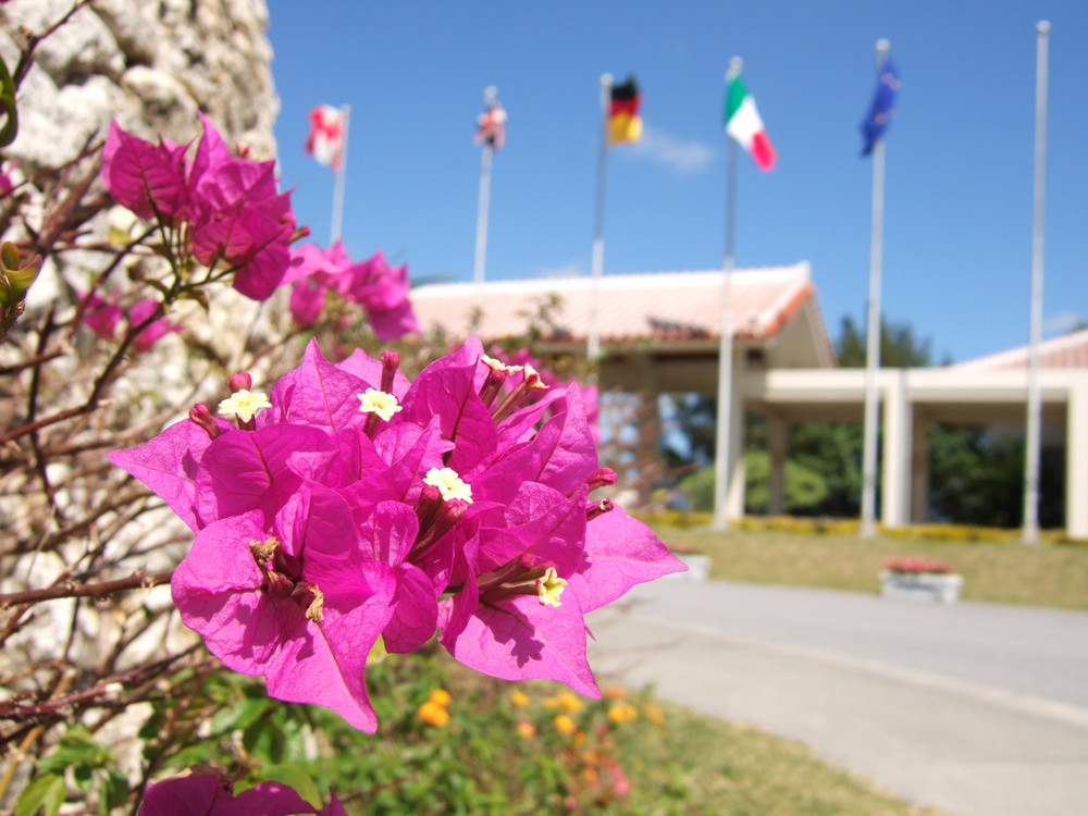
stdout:
<svg viewBox="0 0 1088 816">
<path fill-rule="evenodd" d="M 274 161 L 233 156 L 214 126 L 200 121 L 195 152 L 170 140 L 144 141 L 112 122 L 102 181 L 118 203 L 175 227 L 200 263 L 234 269 L 234 288 L 265 300 L 287 270 L 290 195 L 276 189 Z"/>
</svg>

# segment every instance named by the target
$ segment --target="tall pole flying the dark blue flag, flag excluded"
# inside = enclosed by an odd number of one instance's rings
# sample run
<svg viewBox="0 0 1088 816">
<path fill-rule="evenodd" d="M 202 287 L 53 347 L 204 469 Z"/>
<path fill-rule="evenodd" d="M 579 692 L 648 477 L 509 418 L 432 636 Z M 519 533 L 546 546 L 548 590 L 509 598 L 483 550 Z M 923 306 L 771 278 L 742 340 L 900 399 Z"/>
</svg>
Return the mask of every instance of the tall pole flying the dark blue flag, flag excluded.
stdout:
<svg viewBox="0 0 1088 816">
<path fill-rule="evenodd" d="M 877 42 L 877 73 L 888 61 L 888 40 Z M 873 146 L 873 227 L 869 242 L 869 313 L 865 354 L 865 444 L 862 450 L 862 526 L 861 536 L 871 539 L 877 533 L 877 426 L 880 413 L 880 392 L 877 374 L 880 370 L 880 261 L 883 250 L 883 175 L 885 145 L 878 138 Z"/>
</svg>

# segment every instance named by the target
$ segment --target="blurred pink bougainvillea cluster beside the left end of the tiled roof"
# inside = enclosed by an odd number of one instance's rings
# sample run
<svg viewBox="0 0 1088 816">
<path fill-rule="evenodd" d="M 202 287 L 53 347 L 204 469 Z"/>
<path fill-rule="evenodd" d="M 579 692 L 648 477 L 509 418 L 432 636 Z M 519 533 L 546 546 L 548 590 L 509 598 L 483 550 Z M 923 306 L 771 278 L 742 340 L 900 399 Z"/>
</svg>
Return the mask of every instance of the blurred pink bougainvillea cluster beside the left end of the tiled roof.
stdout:
<svg viewBox="0 0 1088 816">
<path fill-rule="evenodd" d="M 292 250 L 290 269 L 284 279 L 284 284 L 288 283 L 290 314 L 300 326 L 317 321 L 332 290 L 366 310 L 380 341 L 419 333 L 408 300 L 408 268 L 390 267 L 381 250 L 369 260 L 354 263 L 341 240 L 327 251 L 304 244 Z"/>
</svg>

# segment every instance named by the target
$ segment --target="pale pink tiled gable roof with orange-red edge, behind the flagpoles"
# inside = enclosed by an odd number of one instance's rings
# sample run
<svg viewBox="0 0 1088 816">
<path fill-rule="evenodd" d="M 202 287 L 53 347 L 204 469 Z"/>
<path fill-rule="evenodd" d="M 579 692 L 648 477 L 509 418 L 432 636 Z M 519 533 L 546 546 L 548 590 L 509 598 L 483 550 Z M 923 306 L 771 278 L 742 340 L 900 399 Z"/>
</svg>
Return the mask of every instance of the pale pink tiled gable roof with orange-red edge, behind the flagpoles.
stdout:
<svg viewBox="0 0 1088 816">
<path fill-rule="evenodd" d="M 480 289 L 485 338 L 522 334 L 526 314 L 534 314 L 549 295 L 559 307 L 551 321 L 549 341 L 584 342 L 590 331 L 593 281 L 552 277 L 493 281 Z M 604 275 L 597 288 L 597 326 L 603 344 L 655 338 L 717 338 L 721 321 L 724 277 L 707 272 L 655 272 Z M 767 339 L 815 299 L 807 263 L 737 270 L 730 293 L 733 335 Z M 412 289 L 411 301 L 424 331 L 450 336 L 468 333 L 477 300 L 472 283 L 431 284 Z"/>
</svg>

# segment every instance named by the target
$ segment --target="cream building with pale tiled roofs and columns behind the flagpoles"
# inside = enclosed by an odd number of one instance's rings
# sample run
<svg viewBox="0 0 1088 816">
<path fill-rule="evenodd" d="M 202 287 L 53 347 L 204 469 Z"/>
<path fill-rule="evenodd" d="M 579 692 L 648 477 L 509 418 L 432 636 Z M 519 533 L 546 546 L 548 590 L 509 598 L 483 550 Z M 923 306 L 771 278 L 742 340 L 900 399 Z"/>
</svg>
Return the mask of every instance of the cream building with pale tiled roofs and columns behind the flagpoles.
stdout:
<svg viewBox="0 0 1088 816">
<path fill-rule="evenodd" d="M 602 388 L 717 395 L 725 279 L 720 271 L 499 281 L 422 286 L 412 302 L 424 330 L 485 341 L 524 334 L 539 316 L 541 353 L 581 356 L 596 311 Z M 552 296 L 554 308 L 542 310 Z M 732 274 L 733 327 L 728 516 L 743 512 L 744 410 L 768 418 L 771 511 L 780 510 L 791 422 L 863 421 L 865 371 L 839 369 L 807 263 Z M 1088 539 L 1088 331 L 1042 344 L 1042 421 L 1066 448 L 1066 532 Z M 926 520 L 928 424 L 1022 428 L 1027 349 L 943 368 L 882 369 L 880 516 Z"/>
</svg>

